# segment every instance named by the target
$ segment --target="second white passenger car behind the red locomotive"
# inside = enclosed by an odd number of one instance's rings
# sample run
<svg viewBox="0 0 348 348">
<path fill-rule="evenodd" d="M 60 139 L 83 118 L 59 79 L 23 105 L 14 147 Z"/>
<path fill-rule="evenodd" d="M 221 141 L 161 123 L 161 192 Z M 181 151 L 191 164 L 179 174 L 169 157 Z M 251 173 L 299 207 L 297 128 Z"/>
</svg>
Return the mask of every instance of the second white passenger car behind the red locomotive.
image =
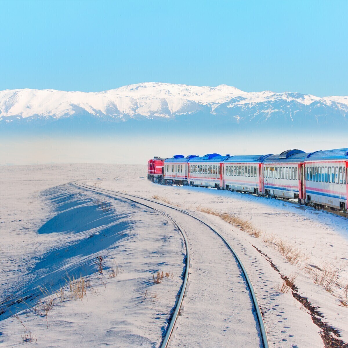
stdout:
<svg viewBox="0 0 348 348">
<path fill-rule="evenodd" d="M 208 153 L 189 161 L 189 184 L 191 186 L 223 188 L 222 164 L 228 158 L 218 153 Z"/>
</svg>

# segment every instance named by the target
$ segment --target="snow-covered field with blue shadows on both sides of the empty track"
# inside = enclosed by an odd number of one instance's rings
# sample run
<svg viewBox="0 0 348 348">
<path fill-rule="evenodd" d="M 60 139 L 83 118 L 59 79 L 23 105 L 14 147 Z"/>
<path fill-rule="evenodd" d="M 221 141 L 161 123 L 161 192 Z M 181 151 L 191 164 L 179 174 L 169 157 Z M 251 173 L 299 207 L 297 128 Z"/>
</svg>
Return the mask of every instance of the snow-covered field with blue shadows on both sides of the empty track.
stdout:
<svg viewBox="0 0 348 348">
<path fill-rule="evenodd" d="M 32 332 L 37 341 L 31 344 L 39 347 L 157 347 L 161 341 L 182 282 L 180 234 L 163 215 L 127 200 L 106 199 L 111 209 L 103 211 L 98 200 L 104 198 L 69 184 L 75 180 L 147 198 L 165 197 L 218 228 L 253 282 L 270 346 L 323 347 L 324 343 L 308 309 L 291 291 L 278 291 L 283 280 L 258 250 L 268 255 L 281 274 L 295 275 L 298 293 L 320 307 L 322 322 L 348 341 L 348 307 L 341 303 L 348 283 L 348 224 L 343 217 L 240 193 L 153 184 L 146 179 L 146 166 L 0 167 L 0 178 L 0 313 L 5 309 L 0 315 L 1 347 L 23 344 L 24 331 Z M 255 238 L 220 217 L 197 212 L 199 205 L 250 220 L 261 236 Z M 279 239 L 285 249 L 292 247 L 295 261 L 280 253 Z M 95 264 L 100 255 L 105 266 L 101 275 Z M 120 274 L 109 277 L 117 266 Z M 219 262 L 211 267 L 219 267 Z M 153 284 L 157 270 L 173 273 L 173 278 Z M 334 277 L 330 286 L 325 281 L 318 284 L 323 270 Z M 69 300 L 66 291 L 67 298 L 61 302 L 57 294 L 47 315 L 48 329 L 45 303 L 36 311 L 30 307 L 39 297 L 19 301 L 23 295 L 41 292 L 44 302 L 44 289 L 58 292 L 69 276 L 80 274 L 89 280 L 86 296 Z M 40 290 L 39 285 L 44 288 Z M 183 319 L 185 306 L 189 308 L 185 301 Z M 180 318 L 177 325 L 180 329 Z M 179 333 L 175 332 L 175 340 Z"/>
</svg>

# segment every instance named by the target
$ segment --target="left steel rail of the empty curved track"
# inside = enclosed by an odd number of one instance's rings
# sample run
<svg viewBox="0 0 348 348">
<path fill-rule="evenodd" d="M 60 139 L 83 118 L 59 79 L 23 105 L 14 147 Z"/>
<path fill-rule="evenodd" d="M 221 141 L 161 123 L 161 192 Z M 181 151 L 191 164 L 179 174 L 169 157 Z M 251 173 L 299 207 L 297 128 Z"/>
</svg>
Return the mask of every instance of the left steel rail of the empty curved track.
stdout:
<svg viewBox="0 0 348 348">
<path fill-rule="evenodd" d="M 91 187 L 89 185 L 86 185 L 85 184 L 79 184 L 77 182 L 75 182 L 75 185 L 77 185 L 78 187 L 82 187 L 82 188 L 85 188 L 87 190 L 92 190 L 92 191 L 97 191 L 97 192 L 101 192 L 101 190 L 104 190 L 104 189 L 101 189 L 101 188 L 95 188 L 95 187 Z M 110 190 L 107 190 L 107 191 L 110 191 Z M 184 299 L 184 294 L 185 294 L 185 291 L 186 291 L 186 288 L 187 288 L 187 283 L 188 283 L 188 278 L 189 278 L 189 270 L 190 270 L 190 250 L 189 250 L 189 246 L 188 246 L 188 242 L 187 242 L 187 239 L 186 239 L 186 236 L 183 232 L 183 230 L 180 228 L 180 226 L 170 217 L 168 216 L 167 214 L 165 214 L 164 212 L 161 212 L 160 210 L 156 209 L 156 208 L 153 208 L 153 207 L 150 207 L 149 205 L 147 204 L 144 204 L 144 203 L 140 203 L 136 200 L 133 200 L 131 198 L 128 198 L 128 197 L 123 197 L 121 196 L 122 194 L 125 195 L 125 193 L 122 193 L 120 192 L 120 195 L 117 195 L 115 194 L 114 192 L 115 191 L 111 191 L 112 194 L 110 193 L 107 193 L 109 196 L 118 196 L 118 197 L 121 197 L 121 198 L 124 198 L 124 199 L 128 199 L 134 203 L 137 203 L 137 204 L 140 204 L 140 205 L 143 205 L 145 207 L 148 207 L 150 209 L 153 209 L 157 212 L 159 212 L 160 214 L 166 216 L 169 220 L 171 220 L 174 224 L 174 226 L 181 232 L 181 235 L 184 239 L 184 243 L 185 243 L 185 248 L 186 248 L 186 264 L 185 264 L 185 275 L 184 275 L 184 280 L 183 280 L 183 283 L 181 285 L 181 289 L 180 289 L 180 295 L 179 295 L 179 298 L 177 300 L 177 303 L 176 303 L 176 306 L 175 306 L 175 310 L 174 310 L 174 313 L 172 315 L 172 320 L 171 322 L 169 323 L 168 325 L 168 328 L 167 328 L 167 331 L 166 331 L 166 334 L 165 336 L 162 338 L 162 341 L 161 341 L 161 344 L 160 344 L 160 348 L 166 348 L 168 346 L 168 342 L 169 342 L 169 339 L 171 338 L 171 335 L 172 335 L 172 332 L 174 330 L 174 325 L 175 325 L 175 322 L 176 322 L 176 319 L 177 317 L 179 316 L 179 311 L 180 311 L 180 308 L 181 308 L 181 305 L 182 305 L 182 302 L 183 302 L 183 299 Z M 105 194 L 105 192 L 102 192 Z M 118 192 L 117 192 L 118 193 Z M 139 199 L 143 199 L 141 197 L 136 197 L 136 196 L 132 196 L 134 198 L 139 198 Z M 155 202 L 156 203 L 156 202 Z"/>
</svg>

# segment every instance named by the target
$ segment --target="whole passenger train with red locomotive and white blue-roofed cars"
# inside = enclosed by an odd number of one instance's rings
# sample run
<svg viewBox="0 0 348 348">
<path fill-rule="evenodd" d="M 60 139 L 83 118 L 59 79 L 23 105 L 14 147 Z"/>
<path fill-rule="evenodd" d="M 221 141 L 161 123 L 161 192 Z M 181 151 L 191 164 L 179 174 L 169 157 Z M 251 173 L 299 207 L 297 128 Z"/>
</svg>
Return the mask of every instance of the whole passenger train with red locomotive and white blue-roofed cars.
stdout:
<svg viewBox="0 0 348 348">
<path fill-rule="evenodd" d="M 347 214 L 348 148 L 278 155 L 175 155 L 148 161 L 148 179 L 163 185 L 190 185 L 297 199 L 301 205 Z"/>
</svg>

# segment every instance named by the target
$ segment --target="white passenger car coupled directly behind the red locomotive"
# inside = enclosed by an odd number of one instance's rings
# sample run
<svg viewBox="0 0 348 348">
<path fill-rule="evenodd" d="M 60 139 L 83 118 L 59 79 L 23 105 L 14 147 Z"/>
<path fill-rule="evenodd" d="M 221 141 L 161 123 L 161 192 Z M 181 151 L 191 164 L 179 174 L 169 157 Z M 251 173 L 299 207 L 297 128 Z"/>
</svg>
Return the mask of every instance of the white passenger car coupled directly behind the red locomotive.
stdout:
<svg viewBox="0 0 348 348">
<path fill-rule="evenodd" d="M 188 184 L 188 161 L 196 155 L 174 155 L 164 161 L 164 184 L 187 185 Z"/>
</svg>

